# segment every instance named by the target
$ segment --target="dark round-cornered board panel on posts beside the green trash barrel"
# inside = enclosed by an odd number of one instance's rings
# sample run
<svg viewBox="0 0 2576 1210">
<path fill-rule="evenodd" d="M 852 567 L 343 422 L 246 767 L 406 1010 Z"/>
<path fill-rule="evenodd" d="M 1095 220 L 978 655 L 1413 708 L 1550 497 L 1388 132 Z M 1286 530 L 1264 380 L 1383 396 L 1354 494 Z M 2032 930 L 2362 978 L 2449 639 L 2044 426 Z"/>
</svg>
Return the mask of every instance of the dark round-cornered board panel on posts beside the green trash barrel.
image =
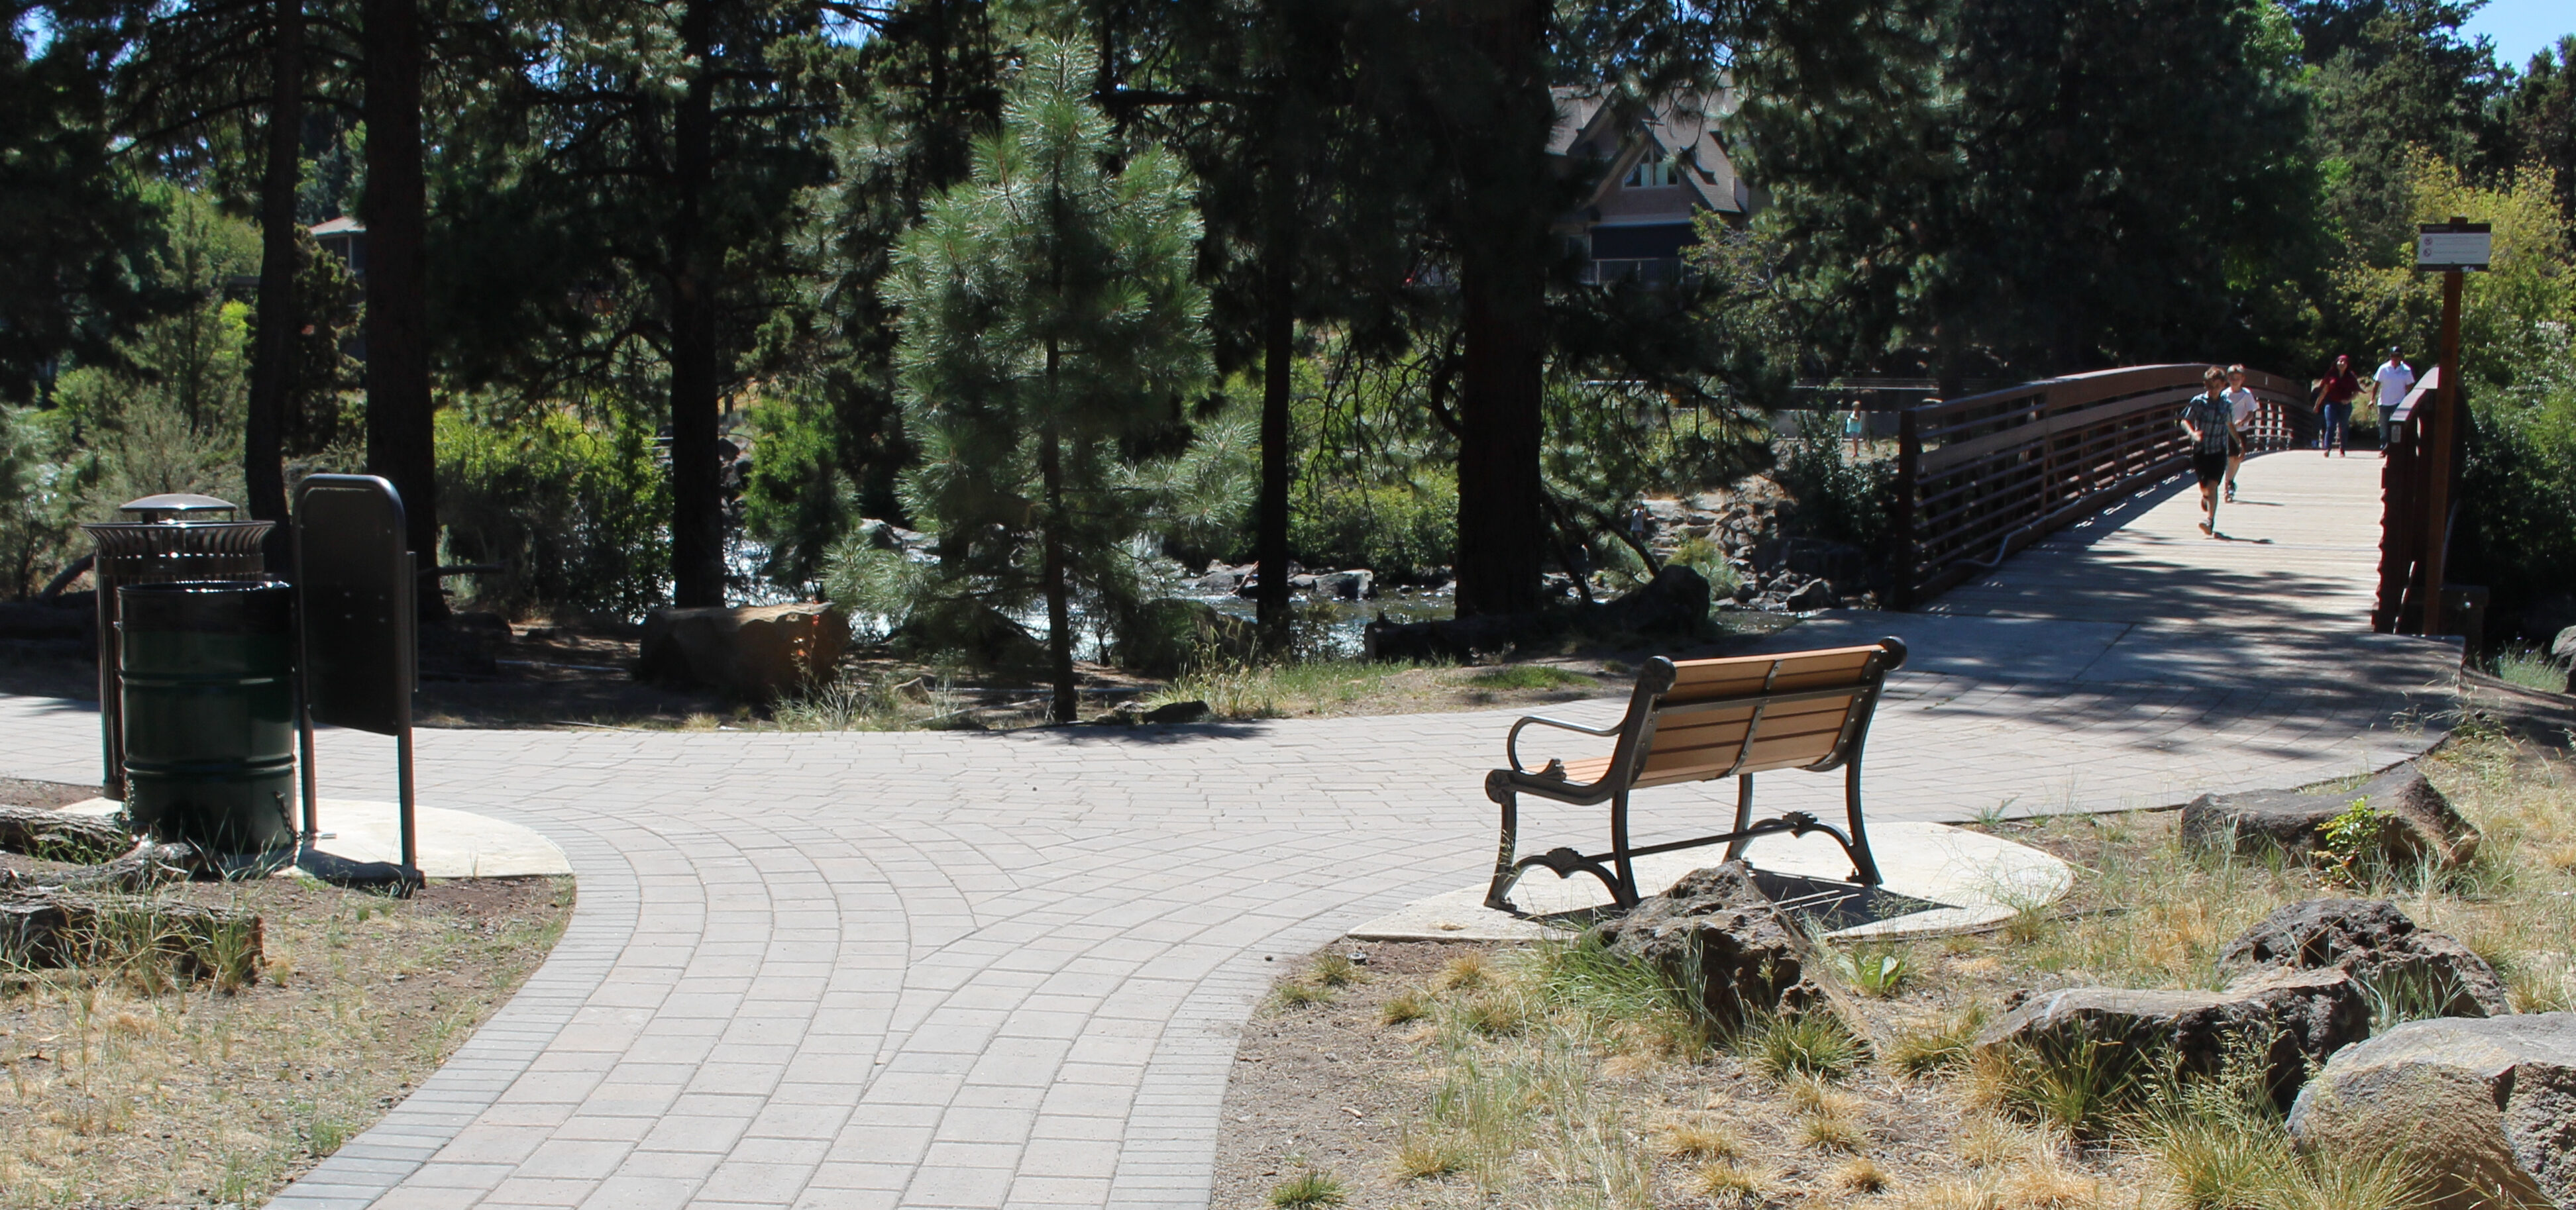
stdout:
<svg viewBox="0 0 2576 1210">
<path fill-rule="evenodd" d="M 296 487 L 296 626 L 314 723 L 379 736 L 412 729 L 417 613 L 402 497 L 371 474 Z"/>
</svg>

